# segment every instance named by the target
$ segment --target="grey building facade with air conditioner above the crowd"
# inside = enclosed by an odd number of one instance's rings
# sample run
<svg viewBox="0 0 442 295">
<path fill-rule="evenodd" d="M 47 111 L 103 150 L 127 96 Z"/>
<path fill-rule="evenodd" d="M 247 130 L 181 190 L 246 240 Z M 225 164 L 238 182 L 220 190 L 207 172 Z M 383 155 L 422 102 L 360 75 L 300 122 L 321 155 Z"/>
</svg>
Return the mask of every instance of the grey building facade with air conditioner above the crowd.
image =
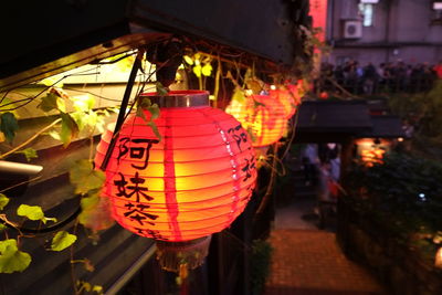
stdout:
<svg viewBox="0 0 442 295">
<path fill-rule="evenodd" d="M 442 60 L 442 1 L 328 0 L 326 62 L 360 65 Z"/>
</svg>

